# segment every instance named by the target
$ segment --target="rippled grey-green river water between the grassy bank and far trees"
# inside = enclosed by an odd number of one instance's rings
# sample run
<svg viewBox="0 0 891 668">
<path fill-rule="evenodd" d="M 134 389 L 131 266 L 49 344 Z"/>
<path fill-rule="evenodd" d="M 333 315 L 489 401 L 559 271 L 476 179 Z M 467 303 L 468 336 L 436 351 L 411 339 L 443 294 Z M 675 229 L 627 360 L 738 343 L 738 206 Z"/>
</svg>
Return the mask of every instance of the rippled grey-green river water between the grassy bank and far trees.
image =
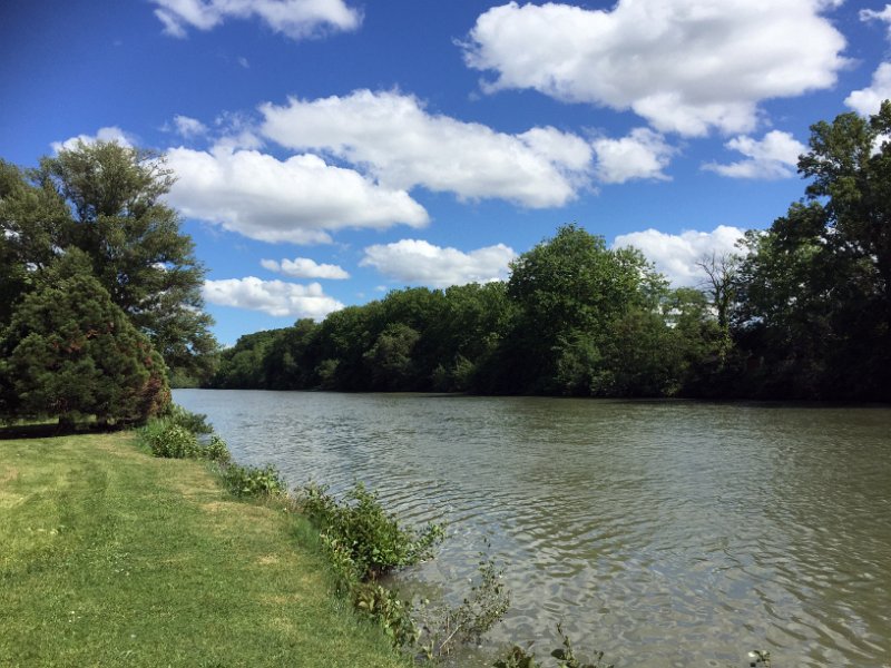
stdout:
<svg viewBox="0 0 891 668">
<path fill-rule="evenodd" d="M 401 578 L 512 592 L 495 646 L 617 668 L 891 667 L 891 409 L 179 390 L 242 463 L 447 522 Z M 477 659 L 468 656 L 468 665 Z"/>
</svg>

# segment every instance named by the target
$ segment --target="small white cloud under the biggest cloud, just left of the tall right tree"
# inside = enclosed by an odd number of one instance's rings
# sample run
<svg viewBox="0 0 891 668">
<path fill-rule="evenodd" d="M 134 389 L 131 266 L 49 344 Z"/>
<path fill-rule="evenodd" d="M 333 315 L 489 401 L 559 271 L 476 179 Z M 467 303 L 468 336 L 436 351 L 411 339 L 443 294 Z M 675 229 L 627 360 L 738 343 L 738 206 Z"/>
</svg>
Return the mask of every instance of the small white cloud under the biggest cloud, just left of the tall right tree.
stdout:
<svg viewBox="0 0 891 668">
<path fill-rule="evenodd" d="M 731 178 L 789 178 L 795 176 L 799 156 L 807 150 L 789 132 L 772 130 L 764 138 L 734 137 L 724 146 L 743 154 L 746 159 L 721 165 L 707 163 L 703 169 Z"/>
</svg>

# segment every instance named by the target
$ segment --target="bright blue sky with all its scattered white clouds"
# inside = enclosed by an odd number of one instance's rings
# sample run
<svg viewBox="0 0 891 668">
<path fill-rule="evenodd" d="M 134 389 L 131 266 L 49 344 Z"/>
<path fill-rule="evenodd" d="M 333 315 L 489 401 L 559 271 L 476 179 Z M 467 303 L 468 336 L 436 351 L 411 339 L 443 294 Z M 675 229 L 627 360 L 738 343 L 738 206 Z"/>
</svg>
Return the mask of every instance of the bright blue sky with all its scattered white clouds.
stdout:
<svg viewBox="0 0 891 668">
<path fill-rule="evenodd" d="M 0 157 L 167 154 L 225 344 L 503 278 L 565 223 L 676 285 L 801 197 L 809 126 L 891 97 L 891 4 L 11 0 Z"/>
</svg>

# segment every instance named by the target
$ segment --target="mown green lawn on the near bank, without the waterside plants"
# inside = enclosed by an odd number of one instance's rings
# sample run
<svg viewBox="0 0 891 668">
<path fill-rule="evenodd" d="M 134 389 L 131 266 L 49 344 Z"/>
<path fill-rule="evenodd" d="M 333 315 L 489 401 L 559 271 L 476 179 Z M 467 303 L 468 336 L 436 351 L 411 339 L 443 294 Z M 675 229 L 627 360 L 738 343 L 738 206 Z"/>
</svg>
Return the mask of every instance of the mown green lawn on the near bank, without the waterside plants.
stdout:
<svg viewBox="0 0 891 668">
<path fill-rule="evenodd" d="M 407 665 L 305 520 L 134 443 L 0 441 L 0 666 Z"/>
</svg>

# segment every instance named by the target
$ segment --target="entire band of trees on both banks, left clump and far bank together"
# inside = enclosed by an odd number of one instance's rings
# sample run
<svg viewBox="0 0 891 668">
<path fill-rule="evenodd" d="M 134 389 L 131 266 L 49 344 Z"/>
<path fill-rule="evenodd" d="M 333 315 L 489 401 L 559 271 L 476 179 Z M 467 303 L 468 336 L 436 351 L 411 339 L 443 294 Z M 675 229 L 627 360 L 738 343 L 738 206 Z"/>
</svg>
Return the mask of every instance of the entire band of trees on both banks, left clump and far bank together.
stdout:
<svg viewBox="0 0 891 668">
<path fill-rule="evenodd" d="M 891 400 L 891 104 L 811 128 L 803 197 L 672 288 L 566 225 L 505 282 L 393 291 L 219 351 L 163 156 L 0 160 L 0 419 L 144 421 L 173 383 L 570 396 Z"/>
</svg>

